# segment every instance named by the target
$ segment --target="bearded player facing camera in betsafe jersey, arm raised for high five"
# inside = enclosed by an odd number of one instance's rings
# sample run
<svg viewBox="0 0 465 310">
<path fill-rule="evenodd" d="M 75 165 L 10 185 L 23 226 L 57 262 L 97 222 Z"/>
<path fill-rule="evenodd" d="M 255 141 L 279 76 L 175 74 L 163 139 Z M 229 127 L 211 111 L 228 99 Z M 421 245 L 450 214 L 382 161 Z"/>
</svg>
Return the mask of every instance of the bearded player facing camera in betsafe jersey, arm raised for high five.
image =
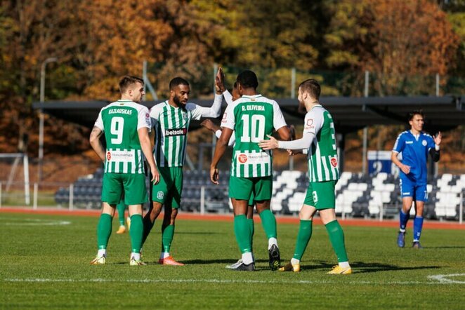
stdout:
<svg viewBox="0 0 465 310">
<path fill-rule="evenodd" d="M 162 252 L 159 264 L 183 265 L 176 262 L 169 251 L 173 241 L 178 208 L 181 205 L 183 164 L 185 147 L 188 142 L 189 123 L 191 119 L 198 120 L 201 117 L 218 117 L 220 115 L 223 95 L 218 83 L 223 78 L 221 72 L 218 70 L 216 76 L 216 95 L 211 107 L 200 107 L 194 103 L 188 103 L 189 83 L 181 77 L 176 77 L 169 82 L 169 100 L 150 109 L 152 126 L 155 128 L 153 156 L 159 168 L 160 182 L 152 187 L 152 204 L 143 220 L 143 242 L 145 242 L 164 205 Z"/>
</svg>

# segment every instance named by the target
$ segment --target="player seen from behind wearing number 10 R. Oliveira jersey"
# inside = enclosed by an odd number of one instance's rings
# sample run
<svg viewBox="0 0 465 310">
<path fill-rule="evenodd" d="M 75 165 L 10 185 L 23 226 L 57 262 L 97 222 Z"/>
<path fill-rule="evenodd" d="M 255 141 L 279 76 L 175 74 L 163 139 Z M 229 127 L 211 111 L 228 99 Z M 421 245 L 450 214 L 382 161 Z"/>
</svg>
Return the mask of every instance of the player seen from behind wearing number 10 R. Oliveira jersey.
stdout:
<svg viewBox="0 0 465 310">
<path fill-rule="evenodd" d="M 237 76 L 237 90 L 242 96 L 226 108 L 221 126 L 223 131 L 216 143 L 214 159 L 210 166 L 210 180 L 218 182 L 218 162 L 223 156 L 234 131 L 236 142 L 232 155 L 229 181 L 229 196 L 234 208 L 234 230 L 237 244 L 242 252 L 242 264 L 233 270 L 254 271 L 247 202 L 254 194 L 256 209 L 268 237 L 269 264 L 272 270 L 280 267 L 280 250 L 277 246 L 276 219 L 270 211 L 273 189 L 273 156 L 262 151 L 258 142 L 273 133 L 273 128 L 283 140 L 291 135 L 277 102 L 256 92 L 258 80 L 249 70 Z"/>
</svg>

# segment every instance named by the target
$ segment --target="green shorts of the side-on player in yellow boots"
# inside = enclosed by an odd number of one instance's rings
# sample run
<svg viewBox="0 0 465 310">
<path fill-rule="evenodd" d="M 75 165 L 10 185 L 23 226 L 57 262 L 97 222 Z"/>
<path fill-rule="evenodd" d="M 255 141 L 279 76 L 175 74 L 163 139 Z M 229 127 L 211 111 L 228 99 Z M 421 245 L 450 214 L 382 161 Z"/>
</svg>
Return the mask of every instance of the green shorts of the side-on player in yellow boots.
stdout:
<svg viewBox="0 0 465 310">
<path fill-rule="evenodd" d="M 303 204 L 311 205 L 317 210 L 336 208 L 336 183 L 337 181 L 310 182 Z"/>
</svg>

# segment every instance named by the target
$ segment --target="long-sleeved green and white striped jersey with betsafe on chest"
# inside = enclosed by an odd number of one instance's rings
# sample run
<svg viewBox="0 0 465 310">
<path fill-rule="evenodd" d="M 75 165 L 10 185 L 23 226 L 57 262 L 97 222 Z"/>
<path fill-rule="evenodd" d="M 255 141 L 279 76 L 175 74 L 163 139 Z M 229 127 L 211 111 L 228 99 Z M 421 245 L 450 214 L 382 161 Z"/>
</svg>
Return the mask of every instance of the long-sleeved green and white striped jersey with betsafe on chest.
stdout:
<svg viewBox="0 0 465 310">
<path fill-rule="evenodd" d="M 223 95 L 215 95 L 211 107 L 188 103 L 185 109 L 169 105 L 168 100 L 150 109 L 152 126 L 155 128 L 153 156 L 159 167 L 181 167 L 185 160 L 185 147 L 191 119 L 218 117 Z"/>
</svg>

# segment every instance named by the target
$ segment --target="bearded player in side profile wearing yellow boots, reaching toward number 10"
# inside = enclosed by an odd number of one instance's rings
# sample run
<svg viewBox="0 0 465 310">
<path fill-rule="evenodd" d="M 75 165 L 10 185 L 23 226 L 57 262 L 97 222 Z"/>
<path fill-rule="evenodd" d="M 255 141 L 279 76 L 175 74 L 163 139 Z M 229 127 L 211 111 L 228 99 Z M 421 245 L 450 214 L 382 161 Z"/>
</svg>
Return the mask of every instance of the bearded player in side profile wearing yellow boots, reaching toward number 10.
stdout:
<svg viewBox="0 0 465 310">
<path fill-rule="evenodd" d="M 343 230 L 334 212 L 334 187 L 339 180 L 336 133 L 331 114 L 320 105 L 320 92 L 320 84 L 314 79 L 303 81 L 299 86 L 299 109 L 307 112 L 301 139 L 287 142 L 270 137 L 270 140 L 263 140 L 258 145 L 263 149 L 287 149 L 289 154 L 307 151 L 310 183 L 299 213 L 300 227 L 294 257 L 280 271 L 300 271 L 303 252 L 312 236 L 313 216 L 318 211 L 339 262 L 328 274 L 351 274 Z"/>
</svg>

